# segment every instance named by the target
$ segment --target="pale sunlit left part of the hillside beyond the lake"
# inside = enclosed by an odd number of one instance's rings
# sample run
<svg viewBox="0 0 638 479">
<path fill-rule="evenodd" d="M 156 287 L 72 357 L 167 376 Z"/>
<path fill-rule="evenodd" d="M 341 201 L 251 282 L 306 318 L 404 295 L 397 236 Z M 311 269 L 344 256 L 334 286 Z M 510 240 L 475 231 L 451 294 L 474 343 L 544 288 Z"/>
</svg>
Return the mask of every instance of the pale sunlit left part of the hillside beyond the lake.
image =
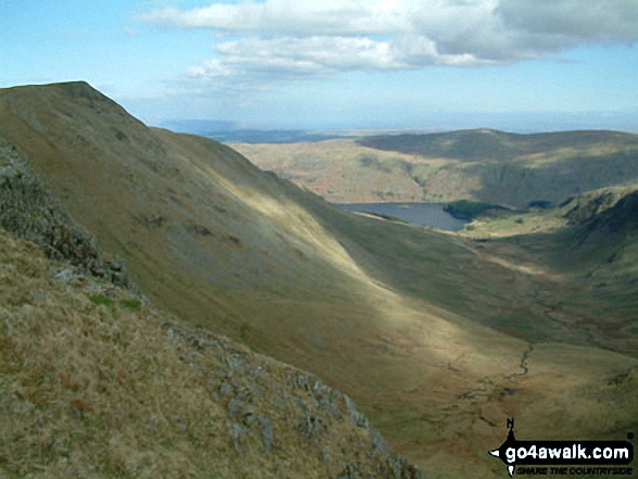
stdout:
<svg viewBox="0 0 638 479">
<path fill-rule="evenodd" d="M 313 143 L 233 143 L 262 169 L 336 203 L 449 201 L 478 187 L 440 159 L 386 152 L 353 139 Z"/>
</svg>

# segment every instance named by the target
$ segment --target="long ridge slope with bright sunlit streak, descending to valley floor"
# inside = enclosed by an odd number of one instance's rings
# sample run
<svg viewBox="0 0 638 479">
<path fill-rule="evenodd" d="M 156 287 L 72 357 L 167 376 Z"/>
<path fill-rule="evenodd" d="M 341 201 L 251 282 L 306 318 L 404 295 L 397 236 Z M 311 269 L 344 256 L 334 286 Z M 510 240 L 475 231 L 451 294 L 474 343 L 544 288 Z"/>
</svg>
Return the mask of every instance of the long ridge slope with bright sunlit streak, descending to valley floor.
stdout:
<svg viewBox="0 0 638 479">
<path fill-rule="evenodd" d="M 614 414 L 583 430 L 598 406 L 575 398 L 636 361 L 584 348 L 537 301 L 553 283 L 465 240 L 353 217 L 86 84 L 1 91 L 0 135 L 155 304 L 320 374 L 434 477 L 500 477 L 485 451 L 508 415 L 530 437 L 550 420 L 531 412 L 561 415 L 554 437 L 634 420 L 612 390 Z"/>
</svg>

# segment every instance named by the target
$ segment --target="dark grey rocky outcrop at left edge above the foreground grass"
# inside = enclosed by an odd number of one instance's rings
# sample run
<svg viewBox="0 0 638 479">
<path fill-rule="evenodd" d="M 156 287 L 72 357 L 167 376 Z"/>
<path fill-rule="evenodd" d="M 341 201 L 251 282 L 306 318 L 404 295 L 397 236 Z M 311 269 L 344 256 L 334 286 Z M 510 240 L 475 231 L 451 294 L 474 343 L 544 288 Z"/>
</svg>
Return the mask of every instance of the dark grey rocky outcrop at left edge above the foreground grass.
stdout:
<svg viewBox="0 0 638 479">
<path fill-rule="evenodd" d="M 104 260 L 95 237 L 76 226 L 25 159 L 0 139 L 0 227 L 38 244 L 51 260 L 130 288 L 121 259 Z"/>
</svg>

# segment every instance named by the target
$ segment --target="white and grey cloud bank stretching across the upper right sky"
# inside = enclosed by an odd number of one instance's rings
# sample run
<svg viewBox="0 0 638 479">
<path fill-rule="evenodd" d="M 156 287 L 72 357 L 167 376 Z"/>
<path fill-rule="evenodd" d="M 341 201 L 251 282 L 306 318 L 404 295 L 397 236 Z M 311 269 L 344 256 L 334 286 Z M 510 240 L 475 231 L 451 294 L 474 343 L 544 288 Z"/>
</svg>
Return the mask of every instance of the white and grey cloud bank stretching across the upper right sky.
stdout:
<svg viewBox="0 0 638 479">
<path fill-rule="evenodd" d="M 139 20 L 233 35 L 188 75 L 239 83 L 510 63 L 638 38 L 635 0 L 249 0 Z"/>
</svg>

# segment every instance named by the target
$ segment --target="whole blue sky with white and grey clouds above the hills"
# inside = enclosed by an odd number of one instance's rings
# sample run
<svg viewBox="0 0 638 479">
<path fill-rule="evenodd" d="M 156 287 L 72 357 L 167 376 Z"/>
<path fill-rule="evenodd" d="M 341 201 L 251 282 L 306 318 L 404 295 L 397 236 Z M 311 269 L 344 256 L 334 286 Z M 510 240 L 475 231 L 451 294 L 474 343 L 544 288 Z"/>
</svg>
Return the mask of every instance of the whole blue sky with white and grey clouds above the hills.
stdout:
<svg viewBox="0 0 638 479">
<path fill-rule="evenodd" d="M 0 0 L 0 88 L 149 124 L 638 131 L 636 0 Z"/>
</svg>

